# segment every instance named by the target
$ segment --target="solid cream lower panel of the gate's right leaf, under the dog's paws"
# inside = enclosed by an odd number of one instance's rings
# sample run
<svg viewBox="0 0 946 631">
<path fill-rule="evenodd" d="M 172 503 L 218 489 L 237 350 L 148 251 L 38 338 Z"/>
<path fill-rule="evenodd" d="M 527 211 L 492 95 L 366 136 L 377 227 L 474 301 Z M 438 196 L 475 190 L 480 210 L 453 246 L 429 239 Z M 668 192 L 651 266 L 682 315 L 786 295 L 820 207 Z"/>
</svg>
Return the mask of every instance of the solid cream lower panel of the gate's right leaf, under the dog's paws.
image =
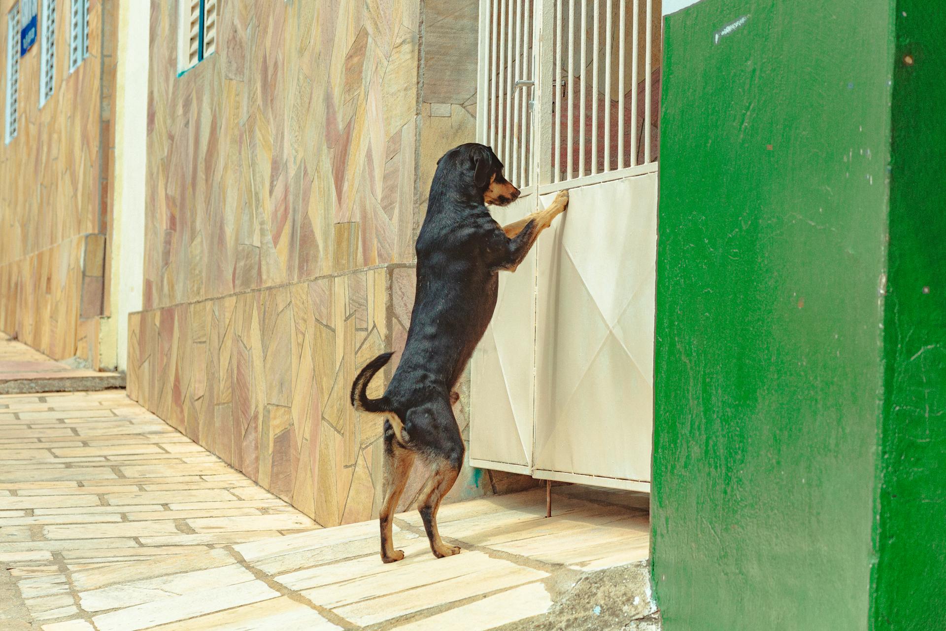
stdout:
<svg viewBox="0 0 946 631">
<path fill-rule="evenodd" d="M 647 490 L 657 174 L 572 189 L 562 218 L 537 245 L 533 475 Z"/>
</svg>

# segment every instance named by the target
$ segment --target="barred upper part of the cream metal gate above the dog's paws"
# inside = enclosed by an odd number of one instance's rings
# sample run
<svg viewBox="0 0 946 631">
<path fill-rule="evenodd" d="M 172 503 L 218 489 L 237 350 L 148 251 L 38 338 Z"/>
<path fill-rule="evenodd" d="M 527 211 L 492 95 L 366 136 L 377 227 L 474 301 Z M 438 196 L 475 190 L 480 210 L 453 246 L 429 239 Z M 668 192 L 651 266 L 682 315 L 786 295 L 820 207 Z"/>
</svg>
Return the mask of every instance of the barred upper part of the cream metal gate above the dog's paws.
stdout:
<svg viewBox="0 0 946 631">
<path fill-rule="evenodd" d="M 656 169 L 654 0 L 481 0 L 480 10 L 478 137 L 520 188 Z"/>
</svg>

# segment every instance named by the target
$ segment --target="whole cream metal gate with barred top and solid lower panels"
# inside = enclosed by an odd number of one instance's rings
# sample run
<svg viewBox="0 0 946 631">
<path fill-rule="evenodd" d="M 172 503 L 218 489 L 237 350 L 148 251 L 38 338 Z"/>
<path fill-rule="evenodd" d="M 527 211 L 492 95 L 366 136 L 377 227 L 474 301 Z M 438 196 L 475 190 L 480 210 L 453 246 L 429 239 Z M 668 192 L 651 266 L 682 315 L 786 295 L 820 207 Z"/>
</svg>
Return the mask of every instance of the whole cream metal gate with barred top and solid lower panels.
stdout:
<svg viewBox="0 0 946 631">
<path fill-rule="evenodd" d="M 478 136 L 523 192 L 494 216 L 563 188 L 571 202 L 500 275 L 473 358 L 475 466 L 649 488 L 659 15 L 659 0 L 480 2 Z"/>
</svg>

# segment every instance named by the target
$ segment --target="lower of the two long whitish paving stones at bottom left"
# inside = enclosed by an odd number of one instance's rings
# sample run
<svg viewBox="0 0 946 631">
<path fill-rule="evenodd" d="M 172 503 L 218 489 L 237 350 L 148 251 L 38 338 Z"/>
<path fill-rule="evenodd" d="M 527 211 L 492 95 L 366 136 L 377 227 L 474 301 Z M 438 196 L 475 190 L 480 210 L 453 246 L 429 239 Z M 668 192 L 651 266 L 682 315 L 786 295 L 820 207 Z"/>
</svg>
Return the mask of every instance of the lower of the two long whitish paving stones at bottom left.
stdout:
<svg viewBox="0 0 946 631">
<path fill-rule="evenodd" d="M 191 591 L 153 603 L 135 605 L 93 618 L 99 631 L 138 631 L 166 622 L 177 622 L 203 614 L 276 598 L 279 593 L 262 581 Z"/>
</svg>

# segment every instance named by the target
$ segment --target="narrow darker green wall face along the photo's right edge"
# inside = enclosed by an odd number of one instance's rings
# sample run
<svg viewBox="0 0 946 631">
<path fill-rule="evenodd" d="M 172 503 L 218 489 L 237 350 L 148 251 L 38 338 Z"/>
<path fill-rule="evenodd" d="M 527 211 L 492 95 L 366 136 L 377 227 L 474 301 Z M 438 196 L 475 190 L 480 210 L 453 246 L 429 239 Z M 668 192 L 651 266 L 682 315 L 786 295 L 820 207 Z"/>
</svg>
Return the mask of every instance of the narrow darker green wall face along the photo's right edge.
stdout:
<svg viewBox="0 0 946 631">
<path fill-rule="evenodd" d="M 874 629 L 946 629 L 946 10 L 899 0 Z M 909 58 L 909 59 L 907 59 Z"/>
</svg>

